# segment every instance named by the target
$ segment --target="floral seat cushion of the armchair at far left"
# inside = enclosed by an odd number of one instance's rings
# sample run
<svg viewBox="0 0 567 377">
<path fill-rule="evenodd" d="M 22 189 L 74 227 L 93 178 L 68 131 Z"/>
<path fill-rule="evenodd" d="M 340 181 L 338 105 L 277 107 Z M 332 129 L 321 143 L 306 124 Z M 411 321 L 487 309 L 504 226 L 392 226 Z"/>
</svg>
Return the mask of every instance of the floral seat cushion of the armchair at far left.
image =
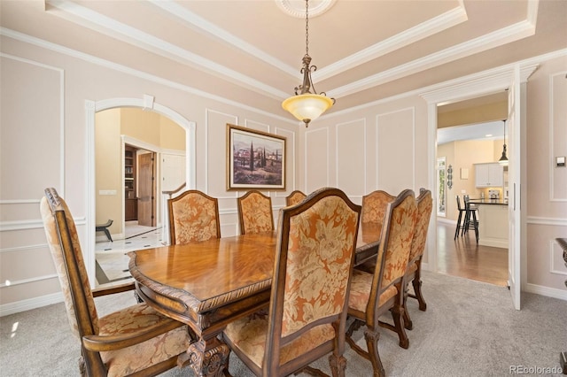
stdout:
<svg viewBox="0 0 567 377">
<path fill-rule="evenodd" d="M 131 334 L 144 327 L 170 320 L 146 304 L 136 304 L 98 319 L 98 335 Z M 188 348 L 187 327 L 180 326 L 122 350 L 100 352 L 100 356 L 108 368 L 109 376 L 123 376 L 175 357 Z"/>
</svg>

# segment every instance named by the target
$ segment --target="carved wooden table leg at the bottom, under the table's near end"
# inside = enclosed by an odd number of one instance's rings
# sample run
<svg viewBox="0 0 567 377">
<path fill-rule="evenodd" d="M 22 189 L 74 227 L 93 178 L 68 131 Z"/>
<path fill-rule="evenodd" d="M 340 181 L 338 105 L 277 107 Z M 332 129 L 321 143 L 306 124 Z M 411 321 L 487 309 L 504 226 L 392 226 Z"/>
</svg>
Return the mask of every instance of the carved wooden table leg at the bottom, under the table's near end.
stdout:
<svg viewBox="0 0 567 377">
<path fill-rule="evenodd" d="M 177 365 L 189 365 L 199 377 L 221 377 L 229 364 L 229 346 L 216 336 L 192 342 L 189 349 L 177 359 Z"/>
</svg>

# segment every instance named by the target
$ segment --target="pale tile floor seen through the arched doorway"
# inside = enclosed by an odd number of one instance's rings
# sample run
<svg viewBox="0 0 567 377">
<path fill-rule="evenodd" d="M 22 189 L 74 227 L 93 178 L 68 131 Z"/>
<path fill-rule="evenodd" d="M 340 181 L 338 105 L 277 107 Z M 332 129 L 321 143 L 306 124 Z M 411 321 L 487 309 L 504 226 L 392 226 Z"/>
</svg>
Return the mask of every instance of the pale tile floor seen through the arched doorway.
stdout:
<svg viewBox="0 0 567 377">
<path fill-rule="evenodd" d="M 130 236 L 124 240 L 96 243 L 97 287 L 123 283 L 132 279 L 130 273 L 128 273 L 129 258 L 126 255 L 128 251 L 149 249 L 163 245 L 160 227 L 141 228 L 138 232 L 144 233 Z"/>
</svg>

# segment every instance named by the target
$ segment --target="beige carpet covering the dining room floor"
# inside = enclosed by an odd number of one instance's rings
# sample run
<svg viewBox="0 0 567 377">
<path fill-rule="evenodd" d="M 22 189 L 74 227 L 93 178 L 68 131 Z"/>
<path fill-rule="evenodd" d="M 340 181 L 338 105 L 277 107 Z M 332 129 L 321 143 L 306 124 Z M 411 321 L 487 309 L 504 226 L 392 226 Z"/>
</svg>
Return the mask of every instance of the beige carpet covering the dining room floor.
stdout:
<svg viewBox="0 0 567 377">
<path fill-rule="evenodd" d="M 417 310 L 416 300 L 408 302 L 414 321 L 408 350 L 398 346 L 396 335 L 382 330 L 379 351 L 388 376 L 505 376 L 516 365 L 532 368 L 526 370 L 534 373 L 524 375 L 538 375 L 559 368 L 560 351 L 567 350 L 567 302 L 523 294 L 523 308 L 517 312 L 506 288 L 429 272 L 423 273 L 423 295 L 427 312 Z M 134 303 L 130 292 L 97 298 L 100 315 Z M 361 330 L 356 336 L 364 344 Z M 2 376 L 78 375 L 79 353 L 63 304 L 0 319 Z M 369 361 L 348 345 L 345 356 L 346 376 L 371 375 Z M 328 358 L 314 365 L 330 373 Z M 234 355 L 230 372 L 235 377 L 252 376 Z M 163 374 L 192 375 L 187 369 Z"/>
</svg>

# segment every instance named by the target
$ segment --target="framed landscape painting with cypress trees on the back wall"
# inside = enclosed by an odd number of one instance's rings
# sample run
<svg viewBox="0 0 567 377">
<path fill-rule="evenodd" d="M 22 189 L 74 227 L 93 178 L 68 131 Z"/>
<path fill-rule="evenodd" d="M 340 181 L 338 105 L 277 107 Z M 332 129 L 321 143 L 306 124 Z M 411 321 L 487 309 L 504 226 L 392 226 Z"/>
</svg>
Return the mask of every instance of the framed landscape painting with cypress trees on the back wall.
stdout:
<svg viewBox="0 0 567 377">
<path fill-rule="evenodd" d="M 285 189 L 283 136 L 227 124 L 227 189 Z"/>
</svg>

